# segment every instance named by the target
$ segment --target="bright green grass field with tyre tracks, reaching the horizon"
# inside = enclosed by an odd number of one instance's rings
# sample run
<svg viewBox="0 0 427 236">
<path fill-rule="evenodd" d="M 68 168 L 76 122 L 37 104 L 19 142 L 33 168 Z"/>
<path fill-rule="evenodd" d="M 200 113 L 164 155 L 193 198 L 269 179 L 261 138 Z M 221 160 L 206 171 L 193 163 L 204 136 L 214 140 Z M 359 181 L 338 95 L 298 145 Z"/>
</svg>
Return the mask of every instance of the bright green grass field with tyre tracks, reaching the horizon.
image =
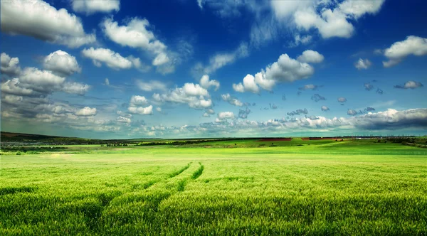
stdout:
<svg viewBox="0 0 427 236">
<path fill-rule="evenodd" d="M 427 149 L 64 147 L 1 155 L 0 235 L 427 235 Z"/>
</svg>

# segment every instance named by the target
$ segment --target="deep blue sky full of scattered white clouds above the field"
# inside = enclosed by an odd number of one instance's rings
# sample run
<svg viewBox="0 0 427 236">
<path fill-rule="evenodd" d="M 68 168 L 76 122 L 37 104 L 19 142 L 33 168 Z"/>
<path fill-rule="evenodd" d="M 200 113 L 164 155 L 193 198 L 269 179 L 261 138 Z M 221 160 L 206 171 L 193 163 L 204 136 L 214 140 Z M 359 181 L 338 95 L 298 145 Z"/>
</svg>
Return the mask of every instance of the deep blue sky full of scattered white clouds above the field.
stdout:
<svg viewBox="0 0 427 236">
<path fill-rule="evenodd" d="M 1 130 L 427 134 L 425 1 L 1 1 Z"/>
</svg>

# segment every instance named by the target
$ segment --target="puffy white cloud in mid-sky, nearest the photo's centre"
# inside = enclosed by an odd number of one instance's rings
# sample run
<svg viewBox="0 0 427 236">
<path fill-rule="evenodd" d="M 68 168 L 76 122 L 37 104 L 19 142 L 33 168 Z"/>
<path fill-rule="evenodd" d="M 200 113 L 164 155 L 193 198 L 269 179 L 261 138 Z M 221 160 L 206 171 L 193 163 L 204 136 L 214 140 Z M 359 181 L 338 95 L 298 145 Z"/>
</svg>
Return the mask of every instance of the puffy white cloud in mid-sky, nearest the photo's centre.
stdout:
<svg viewBox="0 0 427 236">
<path fill-rule="evenodd" d="M 174 90 L 160 95 L 154 93 L 153 101 L 157 103 L 172 102 L 188 104 L 194 109 L 206 109 L 212 107 L 212 100 L 208 90 L 199 84 L 185 83 L 183 87 L 176 87 Z"/>
</svg>

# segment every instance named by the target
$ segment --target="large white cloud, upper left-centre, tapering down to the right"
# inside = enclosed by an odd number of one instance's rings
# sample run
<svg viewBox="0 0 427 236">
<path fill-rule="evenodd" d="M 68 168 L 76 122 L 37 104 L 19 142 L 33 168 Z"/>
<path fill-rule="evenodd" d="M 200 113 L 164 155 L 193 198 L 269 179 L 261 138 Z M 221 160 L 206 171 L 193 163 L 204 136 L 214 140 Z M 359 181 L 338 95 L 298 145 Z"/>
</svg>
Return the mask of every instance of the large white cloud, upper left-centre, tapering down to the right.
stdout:
<svg viewBox="0 0 427 236">
<path fill-rule="evenodd" d="M 115 43 L 152 53 L 154 55 L 152 65 L 159 66 L 169 62 L 167 46 L 147 29 L 150 26 L 147 19 L 132 18 L 127 25 L 119 26 L 112 18 L 106 18 L 101 26 L 105 36 Z"/>
</svg>

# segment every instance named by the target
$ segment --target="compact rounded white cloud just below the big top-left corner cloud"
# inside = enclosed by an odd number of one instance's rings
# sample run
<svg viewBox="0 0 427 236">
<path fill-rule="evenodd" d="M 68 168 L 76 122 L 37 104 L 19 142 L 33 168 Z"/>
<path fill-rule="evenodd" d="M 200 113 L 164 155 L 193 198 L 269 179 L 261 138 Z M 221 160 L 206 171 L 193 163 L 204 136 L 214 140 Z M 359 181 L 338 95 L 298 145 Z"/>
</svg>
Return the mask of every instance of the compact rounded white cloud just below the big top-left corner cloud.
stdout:
<svg viewBox="0 0 427 236">
<path fill-rule="evenodd" d="M 43 60 L 43 67 L 58 73 L 60 76 L 72 75 L 73 73 L 80 73 L 82 71 L 75 57 L 63 50 L 57 50 L 46 56 Z"/>
</svg>

